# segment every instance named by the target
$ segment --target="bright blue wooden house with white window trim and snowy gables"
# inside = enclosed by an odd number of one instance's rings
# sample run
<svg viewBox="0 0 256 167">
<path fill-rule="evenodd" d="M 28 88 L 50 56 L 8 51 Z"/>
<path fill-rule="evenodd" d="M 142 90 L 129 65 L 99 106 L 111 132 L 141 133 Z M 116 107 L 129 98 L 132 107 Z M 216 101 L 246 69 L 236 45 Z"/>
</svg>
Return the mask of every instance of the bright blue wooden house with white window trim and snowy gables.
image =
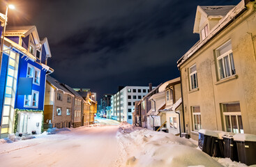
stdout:
<svg viewBox="0 0 256 167">
<path fill-rule="evenodd" d="M 7 26 L 3 42 L 0 81 L 1 138 L 10 133 L 40 134 L 45 78 L 53 72 L 47 38 L 36 26 Z"/>
</svg>

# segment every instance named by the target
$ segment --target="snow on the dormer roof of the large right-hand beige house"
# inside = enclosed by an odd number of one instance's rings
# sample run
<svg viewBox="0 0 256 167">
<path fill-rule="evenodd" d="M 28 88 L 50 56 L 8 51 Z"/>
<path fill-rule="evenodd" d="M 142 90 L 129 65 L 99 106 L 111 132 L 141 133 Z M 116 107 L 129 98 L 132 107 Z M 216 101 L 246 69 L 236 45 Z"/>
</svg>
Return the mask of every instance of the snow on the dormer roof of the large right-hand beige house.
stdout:
<svg viewBox="0 0 256 167">
<path fill-rule="evenodd" d="M 222 16 L 224 17 L 229 13 L 234 6 L 199 6 L 206 15 L 209 16 Z"/>
</svg>

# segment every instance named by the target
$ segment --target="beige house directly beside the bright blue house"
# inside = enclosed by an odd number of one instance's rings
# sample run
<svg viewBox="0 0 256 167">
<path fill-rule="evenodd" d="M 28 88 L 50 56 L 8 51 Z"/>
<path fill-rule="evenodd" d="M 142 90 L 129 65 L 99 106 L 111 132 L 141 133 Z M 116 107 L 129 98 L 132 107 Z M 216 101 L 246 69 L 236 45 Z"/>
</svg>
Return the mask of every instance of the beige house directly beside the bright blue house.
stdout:
<svg viewBox="0 0 256 167">
<path fill-rule="evenodd" d="M 56 79 L 47 76 L 45 84 L 44 127 L 70 127 L 74 95 Z"/>
</svg>

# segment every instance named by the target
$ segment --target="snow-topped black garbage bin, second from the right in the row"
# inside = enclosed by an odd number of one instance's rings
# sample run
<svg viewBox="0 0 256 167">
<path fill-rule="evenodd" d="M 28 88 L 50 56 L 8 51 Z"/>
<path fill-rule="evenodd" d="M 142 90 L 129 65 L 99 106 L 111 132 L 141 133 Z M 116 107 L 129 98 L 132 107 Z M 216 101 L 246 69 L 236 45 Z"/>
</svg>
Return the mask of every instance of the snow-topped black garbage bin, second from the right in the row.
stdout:
<svg viewBox="0 0 256 167">
<path fill-rule="evenodd" d="M 239 161 L 236 142 L 234 142 L 233 135 L 223 136 L 223 146 L 225 158 L 230 158 L 232 161 Z"/>
</svg>

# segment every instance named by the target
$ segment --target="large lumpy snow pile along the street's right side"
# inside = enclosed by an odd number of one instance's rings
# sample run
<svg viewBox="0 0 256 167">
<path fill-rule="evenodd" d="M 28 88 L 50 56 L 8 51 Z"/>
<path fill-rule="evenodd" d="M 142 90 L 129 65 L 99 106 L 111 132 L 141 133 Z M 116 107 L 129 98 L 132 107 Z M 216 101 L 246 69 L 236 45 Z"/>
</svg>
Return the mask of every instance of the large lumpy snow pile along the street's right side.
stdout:
<svg viewBox="0 0 256 167">
<path fill-rule="evenodd" d="M 197 145 L 174 134 L 153 132 L 122 122 L 117 133 L 121 166 L 221 166 Z M 124 157 L 128 157 L 125 159 Z"/>
</svg>

